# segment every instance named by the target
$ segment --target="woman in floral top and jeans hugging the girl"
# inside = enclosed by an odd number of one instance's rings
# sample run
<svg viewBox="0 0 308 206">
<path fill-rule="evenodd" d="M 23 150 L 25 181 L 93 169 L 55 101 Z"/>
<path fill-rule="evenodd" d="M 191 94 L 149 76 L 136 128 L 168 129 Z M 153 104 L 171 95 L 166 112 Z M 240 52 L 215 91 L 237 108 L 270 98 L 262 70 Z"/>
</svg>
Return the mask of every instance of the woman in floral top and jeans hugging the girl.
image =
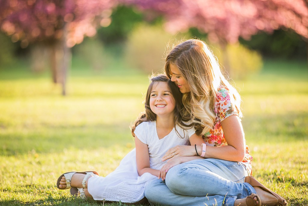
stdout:
<svg viewBox="0 0 308 206">
<path fill-rule="evenodd" d="M 163 205 L 286 205 L 280 195 L 264 187 L 252 174 L 249 148 L 241 125 L 240 96 L 221 73 L 205 42 L 187 40 L 174 47 L 165 72 L 183 93 L 183 116 L 191 118 L 205 144 L 176 146 L 163 161 L 200 155 L 172 167 L 165 183 L 146 184 L 150 203 Z M 175 161 L 175 160 L 173 160 Z"/>
</svg>

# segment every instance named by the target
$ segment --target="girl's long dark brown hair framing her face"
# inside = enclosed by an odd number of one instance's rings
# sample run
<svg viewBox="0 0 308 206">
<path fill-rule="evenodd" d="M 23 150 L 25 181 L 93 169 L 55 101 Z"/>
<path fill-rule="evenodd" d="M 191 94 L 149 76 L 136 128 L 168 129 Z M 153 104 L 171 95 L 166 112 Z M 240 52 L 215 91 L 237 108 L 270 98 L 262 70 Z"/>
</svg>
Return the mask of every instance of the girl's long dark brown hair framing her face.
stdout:
<svg viewBox="0 0 308 206">
<path fill-rule="evenodd" d="M 182 110 L 184 110 L 183 103 L 182 103 L 182 93 L 180 92 L 179 88 L 172 82 L 165 74 L 159 74 L 157 76 L 152 76 L 150 79 L 150 85 L 148 87 L 148 91 L 145 97 L 145 113 L 141 114 L 140 117 L 137 118 L 137 120 L 132 125 L 132 136 L 135 137 L 135 129 L 136 127 L 141 124 L 142 122 L 148 122 L 148 121 L 155 121 L 156 120 L 156 114 L 151 110 L 150 108 L 150 97 L 151 97 L 151 91 L 153 89 L 153 86 L 157 84 L 158 82 L 166 82 L 168 84 L 168 88 L 170 89 L 170 92 L 172 94 L 172 97 L 175 101 L 175 109 L 174 109 L 174 128 L 176 130 L 176 125 L 179 125 L 183 129 L 187 129 L 189 127 L 192 127 L 192 124 L 184 124 L 184 122 L 187 122 L 189 119 L 184 119 L 182 114 Z M 179 132 L 176 130 L 176 133 L 179 135 Z M 184 137 L 182 137 L 184 138 Z"/>
</svg>

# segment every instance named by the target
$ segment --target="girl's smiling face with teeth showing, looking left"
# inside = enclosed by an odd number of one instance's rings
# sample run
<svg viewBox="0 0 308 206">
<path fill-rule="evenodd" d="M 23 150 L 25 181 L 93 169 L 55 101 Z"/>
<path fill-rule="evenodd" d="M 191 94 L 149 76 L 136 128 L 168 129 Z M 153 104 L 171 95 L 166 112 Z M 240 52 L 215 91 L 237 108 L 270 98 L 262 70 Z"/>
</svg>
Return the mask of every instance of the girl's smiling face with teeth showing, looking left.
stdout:
<svg viewBox="0 0 308 206">
<path fill-rule="evenodd" d="M 157 116 L 173 115 L 175 100 L 167 82 L 157 82 L 150 93 L 150 108 Z"/>
</svg>

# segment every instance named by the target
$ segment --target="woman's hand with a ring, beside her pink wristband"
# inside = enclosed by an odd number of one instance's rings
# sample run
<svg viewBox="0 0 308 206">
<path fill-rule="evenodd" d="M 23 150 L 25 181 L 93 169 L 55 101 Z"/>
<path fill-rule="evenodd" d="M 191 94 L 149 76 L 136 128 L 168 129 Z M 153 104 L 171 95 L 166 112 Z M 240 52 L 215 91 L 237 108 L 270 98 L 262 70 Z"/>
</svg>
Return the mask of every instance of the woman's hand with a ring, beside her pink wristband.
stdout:
<svg viewBox="0 0 308 206">
<path fill-rule="evenodd" d="M 179 156 L 195 156 L 197 155 L 195 145 L 194 146 L 189 146 L 189 145 L 177 145 L 171 149 L 169 149 L 164 157 L 161 159 L 162 161 L 165 161 L 167 159 L 170 159 L 172 157 Z"/>
</svg>

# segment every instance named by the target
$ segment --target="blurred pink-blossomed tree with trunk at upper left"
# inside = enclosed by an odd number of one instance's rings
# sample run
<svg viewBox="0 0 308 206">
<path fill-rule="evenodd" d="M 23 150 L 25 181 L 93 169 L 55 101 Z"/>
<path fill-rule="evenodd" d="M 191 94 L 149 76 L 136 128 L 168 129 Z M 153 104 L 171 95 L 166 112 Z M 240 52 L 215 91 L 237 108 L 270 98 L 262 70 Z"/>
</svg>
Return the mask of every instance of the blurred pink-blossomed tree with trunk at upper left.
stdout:
<svg viewBox="0 0 308 206">
<path fill-rule="evenodd" d="M 66 76 L 70 49 L 94 36 L 96 26 L 107 25 L 114 0 L 0 0 L 0 26 L 13 42 L 43 42 L 51 48 L 53 81 L 62 83 L 66 94 Z M 110 23 L 109 23 L 110 24 Z M 59 71 L 61 71 L 59 73 Z"/>
</svg>

